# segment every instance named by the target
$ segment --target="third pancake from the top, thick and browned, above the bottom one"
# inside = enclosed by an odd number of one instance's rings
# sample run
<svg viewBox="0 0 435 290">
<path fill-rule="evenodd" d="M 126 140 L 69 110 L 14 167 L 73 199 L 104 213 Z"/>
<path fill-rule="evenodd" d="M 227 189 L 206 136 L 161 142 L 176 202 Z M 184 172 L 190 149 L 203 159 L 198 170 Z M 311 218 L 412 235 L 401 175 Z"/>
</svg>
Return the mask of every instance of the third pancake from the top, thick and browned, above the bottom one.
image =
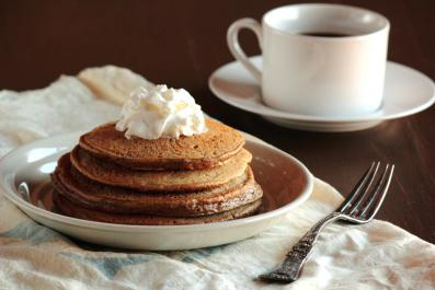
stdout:
<svg viewBox="0 0 435 290">
<path fill-rule="evenodd" d="M 227 184 L 194 193 L 141 193 L 93 182 L 62 155 L 51 175 L 57 192 L 78 206 L 117 213 L 195 217 L 217 213 L 253 202 L 262 197 L 251 167 Z"/>
</svg>

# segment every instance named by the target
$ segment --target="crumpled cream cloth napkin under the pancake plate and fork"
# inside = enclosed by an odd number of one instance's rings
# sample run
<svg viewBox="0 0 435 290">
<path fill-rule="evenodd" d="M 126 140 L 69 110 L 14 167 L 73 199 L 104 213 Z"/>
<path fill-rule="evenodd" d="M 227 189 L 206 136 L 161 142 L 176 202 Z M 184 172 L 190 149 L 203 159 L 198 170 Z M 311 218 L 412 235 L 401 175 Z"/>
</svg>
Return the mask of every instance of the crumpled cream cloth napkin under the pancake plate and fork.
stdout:
<svg viewBox="0 0 435 290">
<path fill-rule="evenodd" d="M 119 107 L 75 77 L 46 89 L 0 92 L 0 156 L 53 135 L 115 119 Z M 270 230 L 244 241 L 176 252 L 107 248 L 43 227 L 0 193 L 0 289 L 434 289 L 435 246 L 385 221 L 329 225 L 301 278 L 267 285 L 257 275 L 343 197 L 320 179 L 312 196 Z"/>
</svg>

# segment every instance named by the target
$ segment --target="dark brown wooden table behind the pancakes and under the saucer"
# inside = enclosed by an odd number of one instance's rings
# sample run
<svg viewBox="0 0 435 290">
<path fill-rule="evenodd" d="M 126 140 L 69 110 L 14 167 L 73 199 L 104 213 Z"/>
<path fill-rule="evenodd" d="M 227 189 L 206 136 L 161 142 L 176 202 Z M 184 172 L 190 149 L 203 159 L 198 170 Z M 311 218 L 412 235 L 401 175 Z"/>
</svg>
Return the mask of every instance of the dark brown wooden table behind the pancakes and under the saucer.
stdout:
<svg viewBox="0 0 435 290">
<path fill-rule="evenodd" d="M 397 173 L 378 218 L 435 242 L 435 107 L 359 132 L 319 134 L 271 125 L 218 101 L 209 74 L 232 61 L 226 30 L 291 1 L 1 1 L 0 88 L 43 88 L 59 74 L 114 63 L 157 83 L 186 88 L 210 115 L 301 160 L 346 194 L 370 161 Z M 389 59 L 435 79 L 435 2 L 325 1 L 366 7 L 391 21 Z M 251 55 L 256 40 L 241 33 Z M 61 96 L 59 96 L 61 97 Z M 412 97 L 412 95 L 410 95 Z"/>
</svg>

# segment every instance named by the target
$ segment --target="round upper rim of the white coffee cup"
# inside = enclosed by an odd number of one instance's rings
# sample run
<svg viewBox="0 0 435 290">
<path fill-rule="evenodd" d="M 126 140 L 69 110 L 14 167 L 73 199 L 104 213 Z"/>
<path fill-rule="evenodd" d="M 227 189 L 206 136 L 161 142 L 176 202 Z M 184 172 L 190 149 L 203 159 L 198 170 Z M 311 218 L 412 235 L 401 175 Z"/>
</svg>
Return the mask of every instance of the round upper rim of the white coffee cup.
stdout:
<svg viewBox="0 0 435 290">
<path fill-rule="evenodd" d="M 276 14 L 277 12 L 279 12 L 282 10 L 290 9 L 290 8 L 291 9 L 304 9 L 304 8 L 316 9 L 316 8 L 318 8 L 318 9 L 323 9 L 323 10 L 346 9 L 348 11 L 354 11 L 354 12 L 365 12 L 365 13 L 373 15 L 374 18 L 377 18 L 380 21 L 381 25 L 379 25 L 378 28 L 371 30 L 370 32 L 367 32 L 367 33 L 363 32 L 363 33 L 358 33 L 355 35 L 346 35 L 346 36 L 342 36 L 342 37 L 328 37 L 328 36 L 313 36 L 313 35 L 302 35 L 302 34 L 298 34 L 298 33 L 290 33 L 290 32 L 279 28 L 279 27 L 276 27 L 276 25 L 273 25 L 271 23 L 271 19 L 274 18 L 274 14 Z M 274 8 L 272 10 L 267 11 L 263 15 L 262 25 L 263 25 L 263 27 L 267 27 L 272 32 L 279 34 L 282 36 L 298 37 L 298 38 L 304 38 L 304 39 L 316 39 L 316 40 L 322 40 L 322 42 L 356 40 L 356 39 L 362 39 L 362 38 L 368 38 L 373 35 L 377 35 L 379 33 L 390 30 L 390 22 L 388 21 L 388 19 L 378 12 L 375 12 L 373 10 L 368 10 L 365 8 L 354 7 L 354 5 L 330 4 L 330 3 L 300 3 L 300 4 L 288 4 L 288 5 L 277 7 L 277 8 Z"/>
</svg>

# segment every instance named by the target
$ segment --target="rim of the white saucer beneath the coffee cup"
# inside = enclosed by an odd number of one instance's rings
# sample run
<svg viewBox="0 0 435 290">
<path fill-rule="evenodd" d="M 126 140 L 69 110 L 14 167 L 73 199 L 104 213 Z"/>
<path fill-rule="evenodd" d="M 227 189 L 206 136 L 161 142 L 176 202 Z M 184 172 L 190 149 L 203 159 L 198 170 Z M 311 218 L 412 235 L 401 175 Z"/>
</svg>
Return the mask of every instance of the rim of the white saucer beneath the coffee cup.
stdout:
<svg viewBox="0 0 435 290">
<path fill-rule="evenodd" d="M 261 55 L 251 56 L 251 57 L 249 57 L 249 59 L 252 60 L 253 62 L 255 62 L 255 61 L 260 61 L 260 59 L 262 59 L 262 56 Z M 428 98 L 428 101 L 425 102 L 424 104 L 419 105 L 419 106 L 414 106 L 411 109 L 402 111 L 397 114 L 386 115 L 386 114 L 382 114 L 382 109 L 380 108 L 374 113 L 369 113 L 366 115 L 347 116 L 347 117 L 313 116 L 313 115 L 287 113 L 284 111 L 278 111 L 276 108 L 270 107 L 270 106 L 263 104 L 263 102 L 260 103 L 260 105 L 262 106 L 261 108 L 247 107 L 239 102 L 233 102 L 231 100 L 228 100 L 226 96 L 218 93 L 219 89 L 217 89 L 214 85 L 214 80 L 216 80 L 216 77 L 221 71 L 226 70 L 230 66 L 241 66 L 241 65 L 239 63 L 239 61 L 234 60 L 231 62 L 227 62 L 227 63 L 220 66 L 219 68 L 217 68 L 208 78 L 209 90 L 213 92 L 213 94 L 217 98 L 219 98 L 220 101 L 222 101 L 231 106 L 234 106 L 242 111 L 247 111 L 247 112 L 254 113 L 257 115 L 266 116 L 266 117 L 288 119 L 288 120 L 295 120 L 295 121 L 298 121 L 298 120 L 310 121 L 313 124 L 314 123 L 330 123 L 330 124 L 333 124 L 333 123 L 364 123 L 364 121 L 373 121 L 373 120 L 387 120 L 387 119 L 402 118 L 405 116 L 414 115 L 416 113 L 420 113 L 420 112 L 428 108 L 430 106 L 432 106 L 435 103 L 435 83 L 430 77 L 427 77 L 423 72 L 421 72 L 416 69 L 413 69 L 411 67 L 408 67 L 405 65 L 402 65 L 402 63 L 399 63 L 396 61 L 391 61 L 391 60 L 387 60 L 387 67 L 390 66 L 390 67 L 396 67 L 396 68 L 399 68 L 402 70 L 408 70 L 408 71 L 411 71 L 412 73 L 415 73 L 416 76 L 419 76 L 419 78 L 424 79 L 424 81 L 427 82 L 427 84 L 432 88 L 432 96 Z M 247 76 L 250 76 L 248 71 L 245 73 L 247 73 Z M 266 112 L 260 112 L 263 108 L 265 108 Z"/>
</svg>

